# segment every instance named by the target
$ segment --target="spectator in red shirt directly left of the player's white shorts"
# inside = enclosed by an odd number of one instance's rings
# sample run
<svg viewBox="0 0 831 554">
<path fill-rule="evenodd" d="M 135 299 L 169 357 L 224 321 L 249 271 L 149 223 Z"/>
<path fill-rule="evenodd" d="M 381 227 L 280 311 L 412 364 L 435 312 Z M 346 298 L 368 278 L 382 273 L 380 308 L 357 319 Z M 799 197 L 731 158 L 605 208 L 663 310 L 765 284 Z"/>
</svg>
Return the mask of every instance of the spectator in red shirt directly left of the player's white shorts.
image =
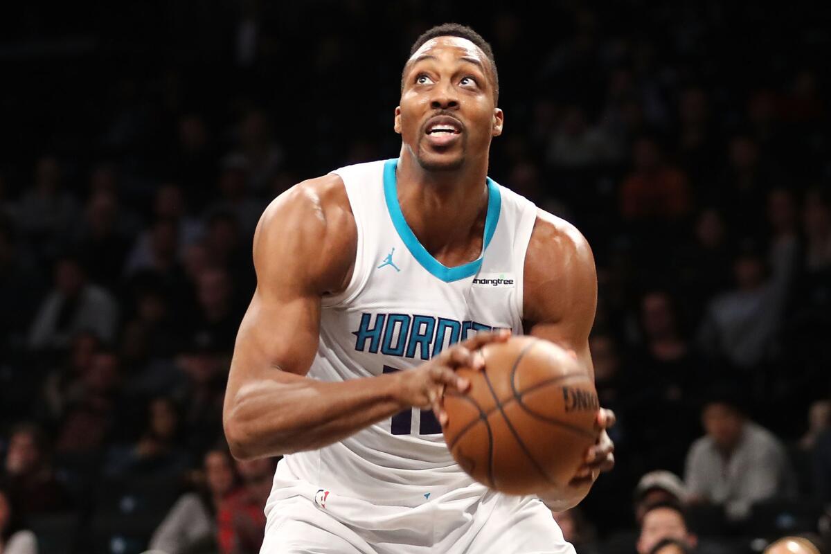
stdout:
<svg viewBox="0 0 831 554">
<path fill-rule="evenodd" d="M 222 504 L 217 515 L 221 554 L 257 554 L 263 543 L 263 506 L 271 493 L 276 460 L 237 460 L 243 488 Z"/>
</svg>

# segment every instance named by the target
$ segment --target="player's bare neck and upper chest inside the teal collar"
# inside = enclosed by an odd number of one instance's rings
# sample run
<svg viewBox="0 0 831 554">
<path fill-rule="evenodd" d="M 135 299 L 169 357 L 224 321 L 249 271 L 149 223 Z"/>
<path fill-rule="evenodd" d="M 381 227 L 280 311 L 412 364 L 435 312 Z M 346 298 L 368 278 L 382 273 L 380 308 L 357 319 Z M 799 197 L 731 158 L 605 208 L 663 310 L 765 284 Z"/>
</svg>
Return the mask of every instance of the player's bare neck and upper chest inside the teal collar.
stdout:
<svg viewBox="0 0 831 554">
<path fill-rule="evenodd" d="M 428 171 L 401 155 L 398 201 L 407 223 L 428 252 L 464 248 L 481 238 L 488 207 L 487 159 L 455 171 Z"/>
</svg>

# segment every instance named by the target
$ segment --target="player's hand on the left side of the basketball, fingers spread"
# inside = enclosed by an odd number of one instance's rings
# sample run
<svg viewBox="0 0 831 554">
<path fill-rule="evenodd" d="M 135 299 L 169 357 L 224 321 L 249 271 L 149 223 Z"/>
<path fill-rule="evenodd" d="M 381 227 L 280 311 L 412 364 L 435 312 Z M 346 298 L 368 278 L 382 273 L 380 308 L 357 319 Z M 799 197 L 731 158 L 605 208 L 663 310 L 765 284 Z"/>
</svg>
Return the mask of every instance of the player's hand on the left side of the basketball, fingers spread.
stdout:
<svg viewBox="0 0 831 554">
<path fill-rule="evenodd" d="M 510 331 L 480 331 L 466 341 L 450 346 L 440 355 L 419 365 L 412 370 L 396 374 L 401 379 L 401 402 L 404 407 L 433 409 L 440 424 L 447 424 L 444 409 L 445 390 L 464 393 L 470 387 L 470 381 L 456 375 L 455 370 L 467 367 L 473 370 L 484 368 L 484 356 L 479 349 L 490 342 L 508 340 Z"/>
</svg>

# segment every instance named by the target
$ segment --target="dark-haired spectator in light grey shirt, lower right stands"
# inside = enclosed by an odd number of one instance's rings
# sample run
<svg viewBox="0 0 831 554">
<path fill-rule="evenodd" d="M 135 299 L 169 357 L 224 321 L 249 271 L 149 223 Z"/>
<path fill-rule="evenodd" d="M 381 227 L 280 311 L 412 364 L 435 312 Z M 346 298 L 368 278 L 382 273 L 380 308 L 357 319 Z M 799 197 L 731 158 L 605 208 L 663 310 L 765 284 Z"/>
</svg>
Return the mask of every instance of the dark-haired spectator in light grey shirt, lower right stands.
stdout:
<svg viewBox="0 0 831 554">
<path fill-rule="evenodd" d="M 756 502 L 796 492 L 783 444 L 747 419 L 743 404 L 732 387 L 711 391 L 701 409 L 706 435 L 690 447 L 684 479 L 691 503 L 721 505 L 733 521 Z"/>
</svg>

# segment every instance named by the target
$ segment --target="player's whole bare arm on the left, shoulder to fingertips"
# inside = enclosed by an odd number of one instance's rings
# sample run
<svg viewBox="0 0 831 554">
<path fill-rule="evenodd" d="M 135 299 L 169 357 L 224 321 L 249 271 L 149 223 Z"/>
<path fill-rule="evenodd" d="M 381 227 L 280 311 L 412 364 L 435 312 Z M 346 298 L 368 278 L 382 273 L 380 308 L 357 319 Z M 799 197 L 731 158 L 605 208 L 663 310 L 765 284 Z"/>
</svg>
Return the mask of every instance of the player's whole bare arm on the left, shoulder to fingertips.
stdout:
<svg viewBox="0 0 831 554">
<path fill-rule="evenodd" d="M 438 410 L 445 386 L 469 383 L 455 367 L 494 334 L 443 351 L 420 367 L 331 383 L 307 378 L 317 352 L 323 295 L 352 275 L 356 226 L 340 177 L 289 189 L 263 213 L 253 241 L 257 289 L 239 326 L 223 424 L 236 458 L 317 449 L 412 406 Z"/>
</svg>

